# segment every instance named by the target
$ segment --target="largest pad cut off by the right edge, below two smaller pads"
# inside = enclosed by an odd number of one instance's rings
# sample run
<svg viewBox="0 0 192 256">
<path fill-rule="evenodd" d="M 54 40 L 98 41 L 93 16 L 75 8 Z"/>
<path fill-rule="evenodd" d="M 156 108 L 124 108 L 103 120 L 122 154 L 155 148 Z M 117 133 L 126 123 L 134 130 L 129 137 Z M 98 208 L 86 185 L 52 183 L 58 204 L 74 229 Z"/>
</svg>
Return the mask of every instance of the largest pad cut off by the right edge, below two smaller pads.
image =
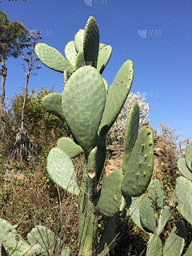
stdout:
<svg viewBox="0 0 192 256">
<path fill-rule="evenodd" d="M 175 194 L 178 198 L 178 212 L 192 225 L 192 182 L 184 177 L 176 178 Z"/>
</svg>

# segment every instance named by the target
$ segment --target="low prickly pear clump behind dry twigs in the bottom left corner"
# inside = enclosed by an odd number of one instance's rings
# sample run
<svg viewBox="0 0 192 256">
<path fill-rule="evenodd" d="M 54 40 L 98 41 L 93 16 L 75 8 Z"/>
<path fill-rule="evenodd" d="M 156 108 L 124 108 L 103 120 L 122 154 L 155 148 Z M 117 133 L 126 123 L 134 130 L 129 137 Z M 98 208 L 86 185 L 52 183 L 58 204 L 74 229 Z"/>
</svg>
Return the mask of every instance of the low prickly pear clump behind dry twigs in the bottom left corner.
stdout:
<svg viewBox="0 0 192 256">
<path fill-rule="evenodd" d="M 27 234 L 27 241 L 22 238 L 14 226 L 0 218 L 1 239 L 7 255 L 35 256 L 53 255 L 73 256 L 68 246 L 63 246 L 62 239 L 46 226 L 35 226 Z"/>
</svg>

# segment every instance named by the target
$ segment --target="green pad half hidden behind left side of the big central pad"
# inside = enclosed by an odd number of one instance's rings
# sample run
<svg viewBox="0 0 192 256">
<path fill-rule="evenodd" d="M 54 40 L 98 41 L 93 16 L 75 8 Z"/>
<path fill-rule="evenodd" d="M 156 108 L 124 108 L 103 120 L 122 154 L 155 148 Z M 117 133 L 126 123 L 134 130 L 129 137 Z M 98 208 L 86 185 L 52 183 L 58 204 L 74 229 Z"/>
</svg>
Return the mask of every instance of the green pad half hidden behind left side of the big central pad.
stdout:
<svg viewBox="0 0 192 256">
<path fill-rule="evenodd" d="M 48 94 L 42 99 L 42 106 L 46 112 L 56 115 L 62 122 L 65 118 L 62 114 L 62 94 Z"/>
</svg>

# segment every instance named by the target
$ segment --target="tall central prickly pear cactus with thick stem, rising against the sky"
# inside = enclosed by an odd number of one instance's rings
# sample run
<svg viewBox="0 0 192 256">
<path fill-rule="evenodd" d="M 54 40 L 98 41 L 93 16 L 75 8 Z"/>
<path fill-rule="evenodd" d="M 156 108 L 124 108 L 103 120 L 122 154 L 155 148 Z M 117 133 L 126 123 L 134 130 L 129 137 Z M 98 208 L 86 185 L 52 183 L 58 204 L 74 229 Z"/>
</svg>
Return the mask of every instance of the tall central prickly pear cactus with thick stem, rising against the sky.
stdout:
<svg viewBox="0 0 192 256">
<path fill-rule="evenodd" d="M 112 47 L 100 43 L 99 38 L 98 24 L 90 17 L 85 29 L 78 30 L 74 41 L 66 44 L 66 58 L 46 44 L 39 43 L 35 50 L 42 63 L 64 76 L 62 94 L 50 94 L 42 103 L 46 111 L 66 122 L 73 140 L 58 140 L 48 155 L 47 171 L 58 186 L 78 196 L 79 255 L 86 256 L 106 255 L 114 248 L 115 218 L 129 214 L 131 197 L 134 201 L 146 191 L 154 168 L 153 130 L 144 126 L 138 134 L 139 107 L 134 103 L 126 126 L 122 169 L 110 174 L 102 184 L 101 194 L 97 193 L 106 161 L 106 134 L 122 110 L 134 78 L 133 62 L 128 59 L 108 88 L 102 73 Z M 70 160 L 78 154 L 85 155 L 80 186 Z M 97 241 L 99 214 L 110 220 Z M 139 215 L 134 219 L 138 218 Z M 152 226 L 148 228 L 149 232 L 155 230 Z"/>
</svg>

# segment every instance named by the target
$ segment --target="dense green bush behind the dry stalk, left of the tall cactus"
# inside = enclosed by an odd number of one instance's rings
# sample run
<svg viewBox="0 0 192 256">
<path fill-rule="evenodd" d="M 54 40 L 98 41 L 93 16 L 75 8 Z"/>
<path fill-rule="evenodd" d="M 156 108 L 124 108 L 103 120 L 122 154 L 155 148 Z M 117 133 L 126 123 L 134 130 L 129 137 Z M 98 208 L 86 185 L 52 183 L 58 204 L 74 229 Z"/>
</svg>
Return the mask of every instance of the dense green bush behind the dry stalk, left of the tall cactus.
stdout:
<svg viewBox="0 0 192 256">
<path fill-rule="evenodd" d="M 41 87 L 41 90 L 30 90 L 26 94 L 25 130 L 27 134 L 31 135 L 33 142 L 30 142 L 25 135 L 22 136 L 22 133 L 18 133 L 22 122 L 25 90 L 22 88 L 22 94 L 15 94 L 14 98 L 9 98 L 10 106 L 6 114 L 6 134 L 4 139 L 6 140 L 6 149 L 10 151 L 10 158 L 13 161 L 16 159 L 20 161 L 26 160 L 29 156 L 36 158 L 42 148 L 47 147 L 49 144 L 55 144 L 58 138 L 63 136 L 70 137 L 68 127 L 54 114 L 47 113 L 42 106 L 42 98 L 53 93 L 53 90 L 54 84 L 50 90 Z M 25 142 L 22 142 L 25 138 Z"/>
</svg>

